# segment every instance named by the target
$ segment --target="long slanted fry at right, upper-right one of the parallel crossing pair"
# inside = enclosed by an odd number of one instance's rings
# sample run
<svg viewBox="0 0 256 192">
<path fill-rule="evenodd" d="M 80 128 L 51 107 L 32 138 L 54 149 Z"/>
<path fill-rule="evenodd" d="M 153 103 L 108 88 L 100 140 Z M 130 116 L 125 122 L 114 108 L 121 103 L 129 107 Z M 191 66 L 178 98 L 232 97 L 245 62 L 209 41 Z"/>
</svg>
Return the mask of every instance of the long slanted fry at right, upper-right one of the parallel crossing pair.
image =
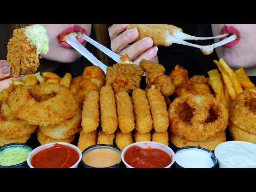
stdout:
<svg viewBox="0 0 256 192">
<path fill-rule="evenodd" d="M 243 90 L 235 72 L 228 66 L 228 64 L 226 63 L 226 61 L 223 58 L 220 58 L 219 62 L 221 64 L 222 69 L 229 76 L 231 82 L 233 83 L 233 86 L 235 87 L 235 90 L 236 90 L 236 94 L 238 95 L 238 94 L 242 93 L 244 90 Z"/>
</svg>

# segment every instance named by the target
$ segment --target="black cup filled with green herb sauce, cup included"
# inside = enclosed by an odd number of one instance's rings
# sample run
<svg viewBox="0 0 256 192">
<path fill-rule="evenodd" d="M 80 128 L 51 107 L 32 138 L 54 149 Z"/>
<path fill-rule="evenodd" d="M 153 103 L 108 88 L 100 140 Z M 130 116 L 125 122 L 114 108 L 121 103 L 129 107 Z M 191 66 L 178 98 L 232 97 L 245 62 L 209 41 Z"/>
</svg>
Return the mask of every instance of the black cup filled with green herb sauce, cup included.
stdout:
<svg viewBox="0 0 256 192">
<path fill-rule="evenodd" d="M 33 148 L 26 143 L 9 143 L 0 147 L 1 168 L 28 168 L 27 157 Z"/>
</svg>

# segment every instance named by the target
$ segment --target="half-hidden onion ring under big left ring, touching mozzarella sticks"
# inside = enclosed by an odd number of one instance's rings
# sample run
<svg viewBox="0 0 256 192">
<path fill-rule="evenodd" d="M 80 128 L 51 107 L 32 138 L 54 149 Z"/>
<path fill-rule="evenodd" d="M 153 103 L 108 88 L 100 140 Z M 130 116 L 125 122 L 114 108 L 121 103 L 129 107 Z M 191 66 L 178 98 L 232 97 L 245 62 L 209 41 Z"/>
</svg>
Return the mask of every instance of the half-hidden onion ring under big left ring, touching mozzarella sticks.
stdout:
<svg viewBox="0 0 256 192">
<path fill-rule="evenodd" d="M 67 119 L 57 125 L 39 126 L 42 133 L 53 139 L 69 138 L 81 131 L 82 110 L 79 109 L 74 117 Z"/>
</svg>

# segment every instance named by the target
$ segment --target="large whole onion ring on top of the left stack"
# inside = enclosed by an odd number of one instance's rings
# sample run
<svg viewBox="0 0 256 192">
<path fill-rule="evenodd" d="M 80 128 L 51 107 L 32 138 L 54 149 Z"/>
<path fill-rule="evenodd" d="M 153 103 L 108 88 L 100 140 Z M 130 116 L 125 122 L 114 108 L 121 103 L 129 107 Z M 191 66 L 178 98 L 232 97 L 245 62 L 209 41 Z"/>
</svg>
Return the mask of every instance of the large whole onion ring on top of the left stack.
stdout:
<svg viewBox="0 0 256 192">
<path fill-rule="evenodd" d="M 54 96 L 41 101 L 43 95 Z M 78 104 L 65 86 L 57 83 L 42 83 L 29 86 L 18 85 L 10 94 L 8 105 L 18 118 L 33 125 L 54 125 L 73 117 Z"/>
</svg>

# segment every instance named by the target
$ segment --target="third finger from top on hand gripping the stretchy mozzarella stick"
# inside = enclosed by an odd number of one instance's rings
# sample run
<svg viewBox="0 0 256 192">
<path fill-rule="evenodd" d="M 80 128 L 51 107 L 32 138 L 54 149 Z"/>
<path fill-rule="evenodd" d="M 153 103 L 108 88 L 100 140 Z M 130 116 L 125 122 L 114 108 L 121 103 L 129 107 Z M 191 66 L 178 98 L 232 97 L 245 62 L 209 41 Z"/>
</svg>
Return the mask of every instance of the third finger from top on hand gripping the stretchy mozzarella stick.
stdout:
<svg viewBox="0 0 256 192">
<path fill-rule="evenodd" d="M 152 47 L 153 44 L 154 42 L 151 37 L 145 37 L 121 51 L 121 55 L 127 54 L 131 60 L 134 60 L 143 52 L 147 51 L 150 47 Z"/>
</svg>

